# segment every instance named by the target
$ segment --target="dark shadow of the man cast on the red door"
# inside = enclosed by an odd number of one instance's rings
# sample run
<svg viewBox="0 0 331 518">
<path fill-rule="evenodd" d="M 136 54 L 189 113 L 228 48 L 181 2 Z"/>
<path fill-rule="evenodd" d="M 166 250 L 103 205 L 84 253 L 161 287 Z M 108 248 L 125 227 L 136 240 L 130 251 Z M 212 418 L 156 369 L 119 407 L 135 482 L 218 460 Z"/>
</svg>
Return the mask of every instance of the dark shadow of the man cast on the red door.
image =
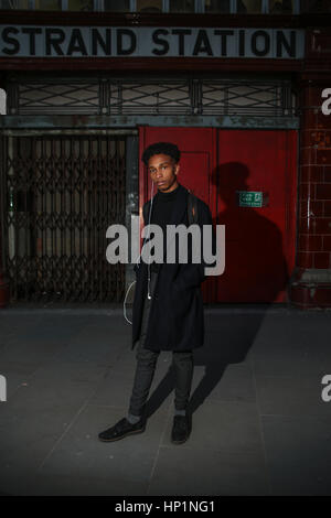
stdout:
<svg viewBox="0 0 331 518">
<path fill-rule="evenodd" d="M 237 191 L 249 191 L 248 179 L 248 168 L 239 162 L 222 164 L 212 173 L 218 193 L 217 224 L 225 225 L 220 302 L 275 302 L 289 281 L 277 225 L 253 207 L 238 206 Z"/>
</svg>

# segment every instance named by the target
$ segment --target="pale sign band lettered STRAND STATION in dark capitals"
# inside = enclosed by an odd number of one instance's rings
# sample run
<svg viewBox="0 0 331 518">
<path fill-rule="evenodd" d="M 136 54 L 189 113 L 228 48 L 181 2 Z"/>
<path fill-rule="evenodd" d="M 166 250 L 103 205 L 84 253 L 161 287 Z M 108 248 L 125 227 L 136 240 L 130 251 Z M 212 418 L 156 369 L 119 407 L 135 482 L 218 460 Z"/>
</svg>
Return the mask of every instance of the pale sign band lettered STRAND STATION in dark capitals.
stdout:
<svg viewBox="0 0 331 518">
<path fill-rule="evenodd" d="M 0 25 L 2 57 L 303 57 L 301 29 Z"/>
</svg>

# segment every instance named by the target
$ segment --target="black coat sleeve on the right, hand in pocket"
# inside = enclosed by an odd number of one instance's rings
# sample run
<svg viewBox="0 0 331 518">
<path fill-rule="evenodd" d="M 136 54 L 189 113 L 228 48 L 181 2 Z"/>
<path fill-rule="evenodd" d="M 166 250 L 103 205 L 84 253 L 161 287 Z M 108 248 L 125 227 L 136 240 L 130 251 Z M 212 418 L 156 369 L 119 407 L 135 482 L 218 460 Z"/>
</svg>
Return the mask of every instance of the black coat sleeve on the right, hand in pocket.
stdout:
<svg viewBox="0 0 331 518">
<path fill-rule="evenodd" d="M 175 280 L 178 287 L 182 289 L 200 287 L 201 283 L 206 279 L 206 276 L 204 274 L 204 268 L 213 266 L 213 265 L 207 265 L 204 261 L 204 257 L 203 257 L 203 231 L 204 231 L 203 225 L 212 226 L 213 253 L 215 255 L 215 251 L 216 251 L 216 239 L 215 239 L 215 230 L 213 227 L 213 218 L 212 218 L 210 207 L 201 201 L 197 206 L 197 225 L 200 226 L 200 229 L 201 229 L 201 250 L 200 250 L 201 262 L 200 263 L 190 262 L 189 265 L 185 265 L 185 268 L 183 268 L 181 274 Z"/>
</svg>

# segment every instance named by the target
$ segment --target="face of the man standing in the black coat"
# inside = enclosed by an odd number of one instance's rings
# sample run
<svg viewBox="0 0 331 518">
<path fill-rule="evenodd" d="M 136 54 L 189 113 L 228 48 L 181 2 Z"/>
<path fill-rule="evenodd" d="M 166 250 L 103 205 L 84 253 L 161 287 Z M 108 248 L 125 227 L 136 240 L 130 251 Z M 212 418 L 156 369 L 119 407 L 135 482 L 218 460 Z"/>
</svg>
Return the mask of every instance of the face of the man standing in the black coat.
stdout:
<svg viewBox="0 0 331 518">
<path fill-rule="evenodd" d="M 168 154 L 154 154 L 148 161 L 150 177 L 158 190 L 164 193 L 178 186 L 177 174 L 180 166 Z"/>
</svg>

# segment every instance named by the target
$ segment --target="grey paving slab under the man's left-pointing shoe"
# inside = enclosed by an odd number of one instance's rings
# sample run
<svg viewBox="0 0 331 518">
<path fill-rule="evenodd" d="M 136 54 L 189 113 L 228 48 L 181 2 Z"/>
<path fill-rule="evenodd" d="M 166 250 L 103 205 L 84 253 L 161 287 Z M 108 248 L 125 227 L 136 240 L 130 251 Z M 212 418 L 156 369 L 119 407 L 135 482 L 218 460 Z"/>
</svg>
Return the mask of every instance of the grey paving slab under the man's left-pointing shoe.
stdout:
<svg viewBox="0 0 331 518">
<path fill-rule="evenodd" d="M 125 411 L 120 407 L 87 406 L 40 473 L 107 479 L 107 495 L 136 495 L 142 488 L 146 494 L 167 409 L 150 418 L 143 433 L 109 443 L 98 441 L 97 434 L 119 421 Z"/>
</svg>

